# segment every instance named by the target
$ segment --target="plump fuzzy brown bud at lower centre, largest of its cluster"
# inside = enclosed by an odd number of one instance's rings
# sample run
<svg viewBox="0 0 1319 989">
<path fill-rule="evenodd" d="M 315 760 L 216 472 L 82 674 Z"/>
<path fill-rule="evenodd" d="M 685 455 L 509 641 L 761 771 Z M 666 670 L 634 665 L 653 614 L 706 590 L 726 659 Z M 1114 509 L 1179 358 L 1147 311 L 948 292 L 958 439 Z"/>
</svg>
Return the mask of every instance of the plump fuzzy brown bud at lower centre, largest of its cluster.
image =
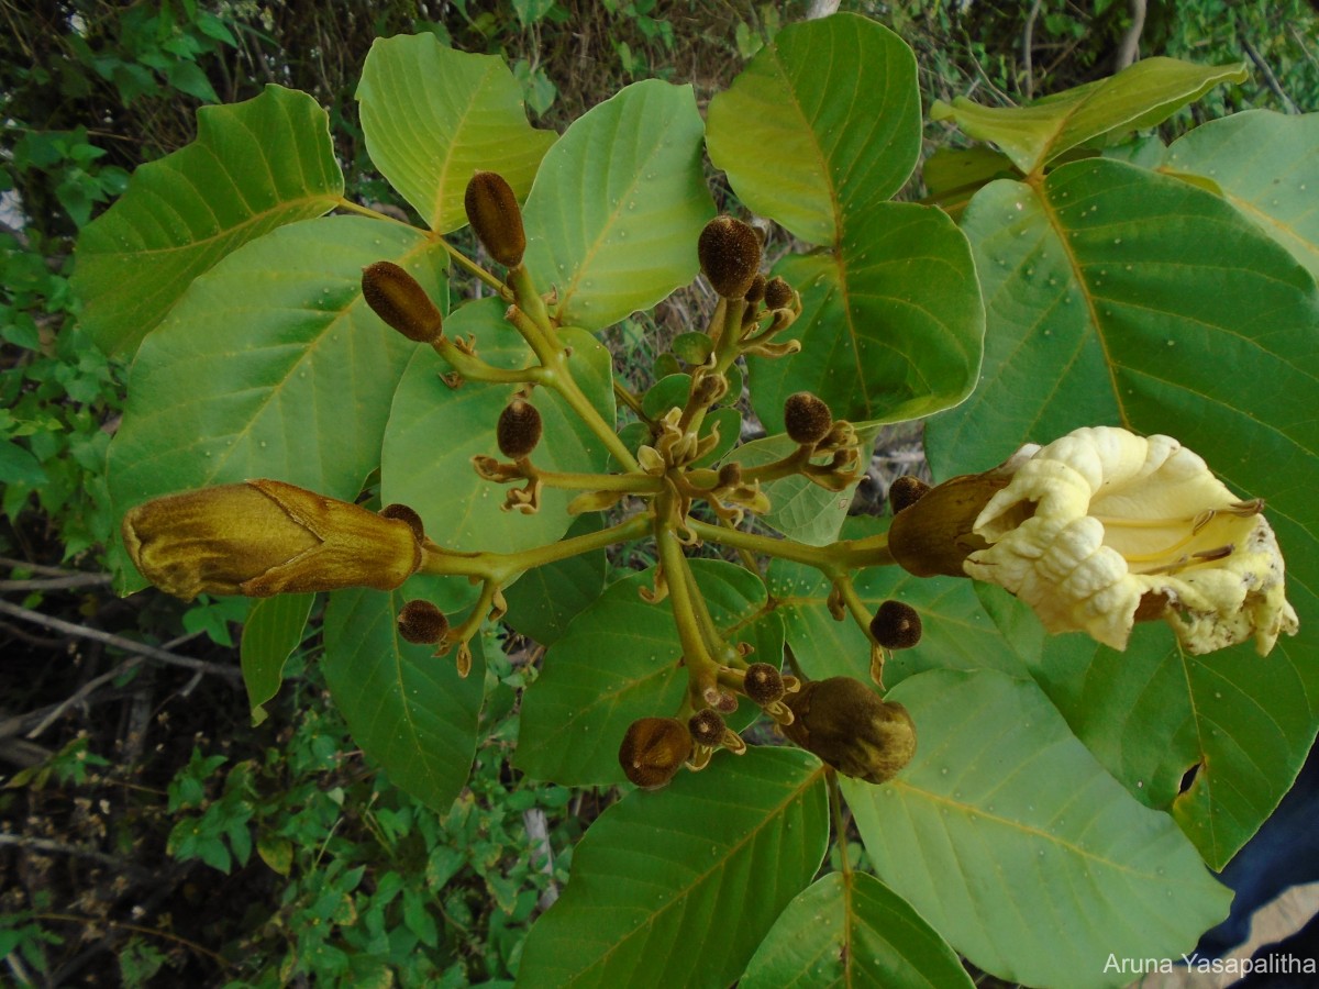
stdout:
<svg viewBox="0 0 1319 989">
<path fill-rule="evenodd" d="M 780 731 L 845 777 L 884 783 L 915 753 L 915 725 L 906 708 L 851 676 L 811 680 L 783 703 L 795 719 Z"/>
</svg>

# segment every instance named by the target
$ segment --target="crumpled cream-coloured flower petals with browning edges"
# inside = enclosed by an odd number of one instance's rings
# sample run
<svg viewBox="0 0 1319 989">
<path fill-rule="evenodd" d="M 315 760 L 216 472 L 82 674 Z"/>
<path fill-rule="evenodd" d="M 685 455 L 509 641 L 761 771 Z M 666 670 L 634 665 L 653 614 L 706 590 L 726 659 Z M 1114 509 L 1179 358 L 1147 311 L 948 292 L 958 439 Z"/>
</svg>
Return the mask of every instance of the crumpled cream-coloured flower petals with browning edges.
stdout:
<svg viewBox="0 0 1319 989">
<path fill-rule="evenodd" d="M 1004 468 L 972 526 L 988 549 L 963 566 L 1050 632 L 1125 649 L 1134 621 L 1161 617 L 1190 653 L 1253 637 L 1260 655 L 1295 634 L 1264 502 L 1237 498 L 1175 439 L 1080 429 Z"/>
</svg>

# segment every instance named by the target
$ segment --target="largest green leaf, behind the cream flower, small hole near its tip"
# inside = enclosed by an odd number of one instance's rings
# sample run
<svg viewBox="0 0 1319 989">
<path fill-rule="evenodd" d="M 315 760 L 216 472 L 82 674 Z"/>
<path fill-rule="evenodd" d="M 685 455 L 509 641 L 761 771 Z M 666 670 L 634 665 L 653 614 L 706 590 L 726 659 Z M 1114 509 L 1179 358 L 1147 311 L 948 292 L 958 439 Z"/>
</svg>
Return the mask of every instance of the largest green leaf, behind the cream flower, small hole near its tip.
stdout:
<svg viewBox="0 0 1319 989">
<path fill-rule="evenodd" d="M 1145 663 L 1177 687 L 1167 709 L 1182 712 L 1171 715 L 1182 741 L 1166 758 L 1182 770 L 1206 762 L 1179 820 L 1221 865 L 1281 799 L 1319 723 L 1319 670 L 1306 659 L 1319 618 L 1319 291 L 1217 196 L 1121 162 L 1064 165 L 1038 191 L 996 182 L 964 225 L 988 303 L 985 384 L 927 426 L 936 473 L 981 469 L 1026 440 L 1115 423 L 1177 436 L 1244 497 L 1268 498 L 1301 637 L 1266 661 L 1237 647 L 1186 659 L 1163 650 Z M 1095 683 L 1112 694 L 1096 715 L 1121 723 L 1134 682 L 1112 676 L 1140 673 L 1092 655 Z M 1207 703 L 1216 692 L 1242 707 L 1219 711 Z M 1256 716 L 1257 705 L 1274 704 L 1275 724 Z M 1136 760 L 1146 785 L 1154 756 Z M 1158 765 L 1158 778 L 1175 774 Z"/>
</svg>

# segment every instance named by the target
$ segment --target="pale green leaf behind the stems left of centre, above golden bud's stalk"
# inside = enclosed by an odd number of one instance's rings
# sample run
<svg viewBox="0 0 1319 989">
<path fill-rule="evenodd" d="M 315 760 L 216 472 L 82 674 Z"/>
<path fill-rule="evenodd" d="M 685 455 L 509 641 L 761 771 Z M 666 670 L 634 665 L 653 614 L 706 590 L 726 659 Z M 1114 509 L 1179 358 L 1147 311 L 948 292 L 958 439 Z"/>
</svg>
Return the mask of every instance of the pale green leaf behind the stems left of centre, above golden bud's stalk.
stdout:
<svg viewBox="0 0 1319 989">
<path fill-rule="evenodd" d="M 472 335 L 477 353 L 500 368 L 534 363 L 530 348 L 504 320 L 506 305 L 495 297 L 468 303 L 445 320 L 451 338 Z M 613 385 L 609 352 L 582 330 L 561 330 L 572 348 L 568 364 L 605 422 L 612 423 Z M 441 373 L 448 364 L 430 347 L 418 347 L 404 372 L 381 455 L 381 497 L 415 509 L 426 531 L 451 550 L 517 553 L 558 539 L 572 522 L 567 504 L 579 493 L 546 488 L 536 514 L 504 512 L 505 487 L 483 480 L 472 456 L 499 456 L 495 423 L 517 385 L 464 381 L 450 388 Z M 601 471 L 604 446 L 547 388 L 532 402 L 543 421 L 543 439 L 533 454 L 545 471 Z"/>
</svg>

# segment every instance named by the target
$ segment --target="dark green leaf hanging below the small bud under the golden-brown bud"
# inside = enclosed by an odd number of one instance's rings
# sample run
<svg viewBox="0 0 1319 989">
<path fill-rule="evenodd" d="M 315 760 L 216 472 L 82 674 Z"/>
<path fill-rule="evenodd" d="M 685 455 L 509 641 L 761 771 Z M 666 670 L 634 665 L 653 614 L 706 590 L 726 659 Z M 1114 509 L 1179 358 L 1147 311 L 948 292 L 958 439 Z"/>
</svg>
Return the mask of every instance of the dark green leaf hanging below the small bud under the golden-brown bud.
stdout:
<svg viewBox="0 0 1319 989">
<path fill-rule="evenodd" d="M 472 640 L 463 679 L 452 655 L 431 655 L 398 637 L 402 591 L 339 591 L 326 608 L 326 686 L 353 741 L 402 787 L 447 811 L 476 753 L 485 663 Z"/>
</svg>

